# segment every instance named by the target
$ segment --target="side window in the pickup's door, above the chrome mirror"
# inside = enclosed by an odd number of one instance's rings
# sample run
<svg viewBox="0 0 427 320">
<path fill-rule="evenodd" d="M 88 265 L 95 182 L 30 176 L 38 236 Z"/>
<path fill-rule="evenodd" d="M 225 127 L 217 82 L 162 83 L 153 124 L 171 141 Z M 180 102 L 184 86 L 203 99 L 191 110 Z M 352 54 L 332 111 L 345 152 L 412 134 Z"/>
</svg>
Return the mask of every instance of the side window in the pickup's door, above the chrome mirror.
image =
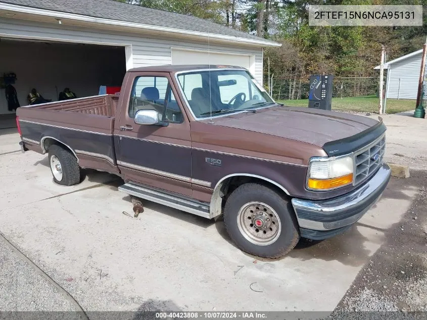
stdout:
<svg viewBox="0 0 427 320">
<path fill-rule="evenodd" d="M 182 113 L 166 77 L 141 76 L 133 81 L 128 114 L 135 117 L 138 110 L 154 109 L 162 121 L 182 122 Z"/>
</svg>

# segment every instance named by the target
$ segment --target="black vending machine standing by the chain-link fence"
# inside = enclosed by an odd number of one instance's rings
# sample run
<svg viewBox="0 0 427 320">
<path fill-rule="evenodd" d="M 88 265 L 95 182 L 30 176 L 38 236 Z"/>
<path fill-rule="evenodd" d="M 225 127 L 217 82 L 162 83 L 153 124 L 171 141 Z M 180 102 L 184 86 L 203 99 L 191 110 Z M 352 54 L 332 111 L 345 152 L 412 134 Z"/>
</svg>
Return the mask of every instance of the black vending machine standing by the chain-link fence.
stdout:
<svg viewBox="0 0 427 320">
<path fill-rule="evenodd" d="M 334 76 L 310 76 L 310 92 L 308 94 L 308 107 L 314 109 L 330 110 L 332 104 L 332 80 Z"/>
</svg>

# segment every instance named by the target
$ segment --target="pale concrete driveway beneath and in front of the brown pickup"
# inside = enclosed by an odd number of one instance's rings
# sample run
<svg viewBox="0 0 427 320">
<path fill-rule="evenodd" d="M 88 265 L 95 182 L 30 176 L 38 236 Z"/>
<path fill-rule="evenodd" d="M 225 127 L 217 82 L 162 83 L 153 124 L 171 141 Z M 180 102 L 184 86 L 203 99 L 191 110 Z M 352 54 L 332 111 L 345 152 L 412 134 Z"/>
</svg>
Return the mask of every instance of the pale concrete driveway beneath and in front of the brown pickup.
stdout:
<svg viewBox="0 0 427 320">
<path fill-rule="evenodd" d="M 386 117 L 386 124 L 400 119 Z M 412 138 L 413 124 L 399 130 L 388 133 L 386 159 L 396 153 L 391 144 Z M 0 135 L 0 310 L 7 311 L 331 311 L 418 191 L 393 178 L 345 234 L 260 260 L 230 242 L 222 221 L 149 201 L 137 219 L 122 214 L 132 211 L 130 198 L 114 175 L 87 170 L 78 186 L 55 185 L 47 157 L 11 152 L 19 137 L 7 134 Z"/>
</svg>

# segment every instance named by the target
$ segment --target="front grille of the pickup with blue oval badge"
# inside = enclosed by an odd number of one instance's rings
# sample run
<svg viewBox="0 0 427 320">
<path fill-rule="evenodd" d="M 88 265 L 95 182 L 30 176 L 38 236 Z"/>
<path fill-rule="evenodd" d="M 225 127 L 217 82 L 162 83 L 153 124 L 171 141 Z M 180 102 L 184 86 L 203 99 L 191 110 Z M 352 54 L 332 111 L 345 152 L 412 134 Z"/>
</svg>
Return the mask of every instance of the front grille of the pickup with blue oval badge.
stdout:
<svg viewBox="0 0 427 320">
<path fill-rule="evenodd" d="M 386 136 L 384 135 L 366 148 L 355 153 L 355 186 L 369 178 L 378 169 L 383 162 L 385 151 Z"/>
</svg>

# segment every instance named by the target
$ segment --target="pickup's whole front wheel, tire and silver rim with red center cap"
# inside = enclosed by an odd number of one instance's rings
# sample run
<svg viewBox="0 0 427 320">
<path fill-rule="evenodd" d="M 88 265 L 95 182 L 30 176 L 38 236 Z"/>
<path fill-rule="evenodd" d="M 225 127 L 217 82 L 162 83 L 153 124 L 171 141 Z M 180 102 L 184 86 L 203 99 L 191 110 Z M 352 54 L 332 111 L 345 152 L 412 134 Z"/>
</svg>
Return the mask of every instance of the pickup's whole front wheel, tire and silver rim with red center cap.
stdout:
<svg viewBox="0 0 427 320">
<path fill-rule="evenodd" d="M 224 223 L 240 249 L 264 258 L 287 254 L 299 240 L 291 202 L 259 184 L 244 184 L 231 193 L 225 203 Z"/>
</svg>

